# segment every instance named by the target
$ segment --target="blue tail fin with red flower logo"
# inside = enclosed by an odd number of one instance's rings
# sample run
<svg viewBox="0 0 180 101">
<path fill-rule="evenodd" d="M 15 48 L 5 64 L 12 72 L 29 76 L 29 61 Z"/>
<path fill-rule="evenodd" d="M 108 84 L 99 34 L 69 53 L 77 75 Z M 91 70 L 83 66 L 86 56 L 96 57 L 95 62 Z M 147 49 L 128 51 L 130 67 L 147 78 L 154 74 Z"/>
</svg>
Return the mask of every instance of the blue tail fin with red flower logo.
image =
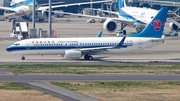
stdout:
<svg viewBox="0 0 180 101">
<path fill-rule="evenodd" d="M 130 37 L 152 37 L 161 38 L 166 23 L 168 8 L 163 7 L 154 17 L 154 19 L 144 28 L 144 30 L 137 34 L 132 34 Z"/>
</svg>

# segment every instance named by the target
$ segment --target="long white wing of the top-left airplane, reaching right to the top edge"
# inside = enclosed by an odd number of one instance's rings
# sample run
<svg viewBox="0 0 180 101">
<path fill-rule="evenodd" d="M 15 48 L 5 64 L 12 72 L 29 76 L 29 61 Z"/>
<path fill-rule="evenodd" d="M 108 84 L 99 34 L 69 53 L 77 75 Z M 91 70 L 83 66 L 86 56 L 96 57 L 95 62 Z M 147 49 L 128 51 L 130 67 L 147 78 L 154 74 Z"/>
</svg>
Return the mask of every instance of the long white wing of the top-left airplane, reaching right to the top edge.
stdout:
<svg viewBox="0 0 180 101">
<path fill-rule="evenodd" d="M 84 5 L 84 4 L 93 4 L 93 3 L 103 3 L 103 2 L 110 2 L 112 0 L 105 0 L 105 1 L 95 1 L 95 2 L 83 2 L 83 3 L 73 3 L 73 4 L 66 4 L 66 5 L 57 5 L 51 6 L 52 8 L 59 8 L 59 7 L 68 7 L 68 6 L 76 6 L 76 5 Z M 39 7 L 37 10 L 47 10 L 49 6 Z"/>
</svg>

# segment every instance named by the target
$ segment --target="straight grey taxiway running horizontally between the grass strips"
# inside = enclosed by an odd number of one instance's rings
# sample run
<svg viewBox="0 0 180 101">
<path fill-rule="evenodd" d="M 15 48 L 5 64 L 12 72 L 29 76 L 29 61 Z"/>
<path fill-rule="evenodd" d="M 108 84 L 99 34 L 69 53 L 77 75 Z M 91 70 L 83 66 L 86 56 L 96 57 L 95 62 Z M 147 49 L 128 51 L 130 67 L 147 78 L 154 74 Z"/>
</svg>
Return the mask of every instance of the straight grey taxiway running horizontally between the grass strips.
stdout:
<svg viewBox="0 0 180 101">
<path fill-rule="evenodd" d="M 180 81 L 180 75 L 0 75 L 0 81 L 7 82 L 33 82 L 33 81 Z"/>
</svg>

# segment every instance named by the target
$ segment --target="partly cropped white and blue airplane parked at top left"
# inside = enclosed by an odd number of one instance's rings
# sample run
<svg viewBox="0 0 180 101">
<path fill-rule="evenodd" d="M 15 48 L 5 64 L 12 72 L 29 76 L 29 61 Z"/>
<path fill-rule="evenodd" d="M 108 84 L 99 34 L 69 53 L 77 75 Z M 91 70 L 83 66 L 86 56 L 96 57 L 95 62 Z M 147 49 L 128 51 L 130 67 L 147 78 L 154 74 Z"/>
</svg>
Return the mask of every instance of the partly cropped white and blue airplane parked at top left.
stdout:
<svg viewBox="0 0 180 101">
<path fill-rule="evenodd" d="M 84 5 L 84 4 L 93 4 L 93 3 L 103 3 L 109 2 L 106 1 L 94 1 L 94 2 L 83 2 L 83 3 L 74 3 L 74 4 L 65 4 L 65 5 L 54 5 L 52 8 L 59 7 L 68 7 L 75 5 Z M 61 2 L 58 2 L 61 3 Z M 56 3 L 57 4 L 57 3 Z M 38 2 L 35 0 L 36 11 L 41 11 L 42 15 L 45 15 L 45 12 L 48 12 L 49 6 L 38 6 Z M 11 11 L 12 13 L 5 14 L 6 19 L 17 18 L 17 16 L 30 16 L 32 14 L 33 0 L 12 0 L 10 3 L 11 7 L 0 7 L 1 10 Z"/>
</svg>

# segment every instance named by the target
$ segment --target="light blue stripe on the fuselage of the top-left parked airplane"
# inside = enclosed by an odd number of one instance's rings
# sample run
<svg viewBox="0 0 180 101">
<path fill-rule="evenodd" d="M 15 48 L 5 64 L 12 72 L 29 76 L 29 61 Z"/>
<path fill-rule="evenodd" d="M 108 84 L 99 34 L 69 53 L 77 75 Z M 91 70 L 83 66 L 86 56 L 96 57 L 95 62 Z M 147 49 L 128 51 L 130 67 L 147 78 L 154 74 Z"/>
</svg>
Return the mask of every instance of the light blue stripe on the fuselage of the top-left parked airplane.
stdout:
<svg viewBox="0 0 180 101">
<path fill-rule="evenodd" d="M 35 4 L 38 5 L 38 2 L 35 0 Z M 17 8 L 17 7 L 20 7 L 22 5 L 33 5 L 33 0 L 26 0 L 26 1 L 23 1 L 23 2 L 19 2 L 19 3 L 16 3 L 14 5 L 11 6 L 11 8 Z"/>
</svg>

